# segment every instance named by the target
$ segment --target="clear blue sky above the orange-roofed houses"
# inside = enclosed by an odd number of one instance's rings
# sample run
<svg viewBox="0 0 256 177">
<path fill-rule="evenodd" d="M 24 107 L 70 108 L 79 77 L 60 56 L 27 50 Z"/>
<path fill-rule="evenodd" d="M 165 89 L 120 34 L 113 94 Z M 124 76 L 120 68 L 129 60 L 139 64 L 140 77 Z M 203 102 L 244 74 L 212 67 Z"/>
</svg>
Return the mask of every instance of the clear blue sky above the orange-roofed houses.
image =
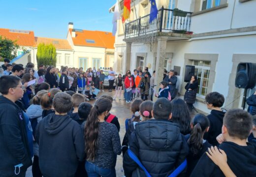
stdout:
<svg viewBox="0 0 256 177">
<path fill-rule="evenodd" d="M 112 31 L 116 0 L 0 0 L 0 28 L 32 30 L 35 36 L 65 39 L 76 29 Z"/>
</svg>

